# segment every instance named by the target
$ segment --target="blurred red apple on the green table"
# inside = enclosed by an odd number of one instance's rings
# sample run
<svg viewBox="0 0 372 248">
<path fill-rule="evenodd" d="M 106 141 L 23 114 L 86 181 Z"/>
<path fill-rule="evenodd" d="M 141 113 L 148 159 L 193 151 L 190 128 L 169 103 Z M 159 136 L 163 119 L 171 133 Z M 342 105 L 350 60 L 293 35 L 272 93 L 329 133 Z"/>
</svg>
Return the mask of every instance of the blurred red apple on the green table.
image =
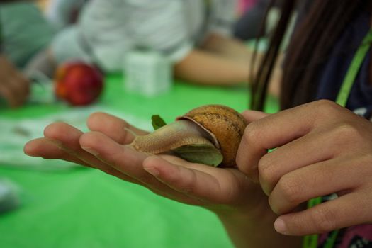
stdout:
<svg viewBox="0 0 372 248">
<path fill-rule="evenodd" d="M 74 61 L 58 67 L 55 74 L 55 94 L 73 106 L 88 105 L 103 89 L 103 75 L 91 64 Z"/>
</svg>

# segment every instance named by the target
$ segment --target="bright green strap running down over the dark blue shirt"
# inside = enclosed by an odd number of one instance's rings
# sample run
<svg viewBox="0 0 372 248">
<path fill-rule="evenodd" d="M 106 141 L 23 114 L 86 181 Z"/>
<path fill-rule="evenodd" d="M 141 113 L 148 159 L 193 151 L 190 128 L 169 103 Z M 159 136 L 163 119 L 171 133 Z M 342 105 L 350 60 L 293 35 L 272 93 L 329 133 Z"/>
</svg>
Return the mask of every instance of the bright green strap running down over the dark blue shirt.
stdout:
<svg viewBox="0 0 372 248">
<path fill-rule="evenodd" d="M 363 41 L 361 45 L 359 45 L 358 50 L 356 50 L 354 58 L 353 60 L 351 60 L 350 67 L 346 72 L 346 76 L 344 78 L 344 81 L 342 82 L 342 86 L 336 98 L 336 103 L 339 104 L 340 106 L 343 107 L 346 106 L 347 100 L 349 99 L 350 96 L 351 87 L 353 86 L 354 81 L 359 74 L 359 70 L 361 69 L 361 65 L 363 64 L 363 61 L 366 58 L 366 55 L 368 54 L 368 50 L 371 47 L 371 43 L 372 28 L 363 38 Z M 310 201 L 308 201 L 308 208 L 312 208 L 313 206 L 318 205 L 320 203 L 322 203 L 322 198 L 320 197 L 311 199 Z M 325 242 L 325 248 L 332 248 L 334 246 L 338 233 L 339 230 L 334 230 L 333 232 L 331 232 L 331 235 L 329 235 L 327 241 Z M 317 240 L 318 235 L 308 235 L 304 238 L 303 247 L 316 248 Z"/>
</svg>

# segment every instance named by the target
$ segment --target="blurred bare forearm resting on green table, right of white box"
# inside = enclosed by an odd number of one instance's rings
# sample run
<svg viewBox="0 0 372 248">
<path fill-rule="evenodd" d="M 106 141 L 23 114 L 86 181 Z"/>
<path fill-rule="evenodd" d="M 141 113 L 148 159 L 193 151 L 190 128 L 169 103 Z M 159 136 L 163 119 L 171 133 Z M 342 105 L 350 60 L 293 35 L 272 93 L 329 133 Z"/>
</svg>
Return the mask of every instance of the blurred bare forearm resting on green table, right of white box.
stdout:
<svg viewBox="0 0 372 248">
<path fill-rule="evenodd" d="M 227 86 L 248 81 L 249 65 L 211 52 L 193 50 L 175 65 L 174 74 L 198 84 Z"/>
</svg>

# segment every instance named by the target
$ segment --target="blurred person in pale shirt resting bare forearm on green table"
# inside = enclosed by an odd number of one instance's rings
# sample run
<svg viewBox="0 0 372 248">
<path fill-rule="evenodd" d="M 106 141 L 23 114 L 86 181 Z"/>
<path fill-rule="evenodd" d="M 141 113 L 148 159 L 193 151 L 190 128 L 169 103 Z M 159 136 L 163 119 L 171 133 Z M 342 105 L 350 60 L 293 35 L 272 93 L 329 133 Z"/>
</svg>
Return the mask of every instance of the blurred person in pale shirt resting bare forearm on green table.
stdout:
<svg viewBox="0 0 372 248">
<path fill-rule="evenodd" d="M 55 2 L 67 6 L 71 1 Z M 104 72 L 117 72 L 127 52 L 145 48 L 169 58 L 176 78 L 206 85 L 239 84 L 249 77 L 251 52 L 230 36 L 236 4 L 231 0 L 91 0 L 84 4 L 77 23 L 56 35 L 51 54 L 56 66 L 80 59 L 94 62 Z M 71 15 L 54 16 L 65 16 L 55 18 L 64 26 Z"/>
</svg>

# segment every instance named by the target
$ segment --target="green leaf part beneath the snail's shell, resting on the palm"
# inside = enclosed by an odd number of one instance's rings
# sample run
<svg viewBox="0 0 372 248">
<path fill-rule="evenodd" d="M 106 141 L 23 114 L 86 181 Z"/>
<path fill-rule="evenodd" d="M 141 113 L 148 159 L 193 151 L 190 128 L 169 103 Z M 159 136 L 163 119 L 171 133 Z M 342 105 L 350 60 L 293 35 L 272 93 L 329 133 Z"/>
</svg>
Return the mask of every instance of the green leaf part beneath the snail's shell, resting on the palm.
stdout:
<svg viewBox="0 0 372 248">
<path fill-rule="evenodd" d="M 173 150 L 179 157 L 188 162 L 207 164 L 217 167 L 221 164 L 223 156 L 214 145 L 184 145 Z"/>
</svg>

